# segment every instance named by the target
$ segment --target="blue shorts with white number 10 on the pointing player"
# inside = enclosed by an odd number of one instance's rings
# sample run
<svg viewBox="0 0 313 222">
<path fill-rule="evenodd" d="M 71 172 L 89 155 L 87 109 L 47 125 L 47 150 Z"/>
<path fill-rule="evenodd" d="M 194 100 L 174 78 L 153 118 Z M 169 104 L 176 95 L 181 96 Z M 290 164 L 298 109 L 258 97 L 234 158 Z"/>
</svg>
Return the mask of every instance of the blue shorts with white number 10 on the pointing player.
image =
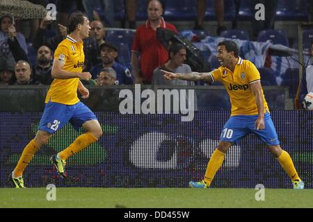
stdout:
<svg viewBox="0 0 313 222">
<path fill-rule="evenodd" d="M 255 121 L 257 121 L 257 115 L 238 115 L 230 117 L 223 127 L 220 140 L 238 144 L 240 140 L 249 133 L 255 133 L 265 144 L 280 144 L 271 115 L 268 112 L 264 115 L 264 130 L 255 129 Z"/>
</svg>

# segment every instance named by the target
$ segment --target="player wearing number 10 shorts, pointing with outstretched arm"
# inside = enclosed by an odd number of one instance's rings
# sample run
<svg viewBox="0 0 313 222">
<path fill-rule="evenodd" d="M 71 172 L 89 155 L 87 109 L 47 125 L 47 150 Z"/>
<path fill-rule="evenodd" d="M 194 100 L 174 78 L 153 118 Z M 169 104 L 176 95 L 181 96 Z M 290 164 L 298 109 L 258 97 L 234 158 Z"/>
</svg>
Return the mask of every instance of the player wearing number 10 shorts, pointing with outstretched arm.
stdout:
<svg viewBox="0 0 313 222">
<path fill-rule="evenodd" d="M 218 147 L 211 155 L 204 179 L 200 182 L 189 182 L 190 187 L 207 188 L 223 164 L 225 153 L 230 146 L 237 144 L 249 133 L 255 133 L 271 153 L 278 158 L 284 171 L 291 178 L 294 189 L 303 189 L 304 182 L 298 176 L 289 153 L 282 150 L 268 105 L 264 98 L 259 71 L 257 67 L 239 57 L 236 43 L 223 41 L 218 44 L 217 58 L 220 67 L 210 73 L 191 72 L 174 74 L 163 71 L 168 80 L 203 80 L 219 81 L 225 85 L 232 104 L 231 117 L 225 123 Z"/>
</svg>

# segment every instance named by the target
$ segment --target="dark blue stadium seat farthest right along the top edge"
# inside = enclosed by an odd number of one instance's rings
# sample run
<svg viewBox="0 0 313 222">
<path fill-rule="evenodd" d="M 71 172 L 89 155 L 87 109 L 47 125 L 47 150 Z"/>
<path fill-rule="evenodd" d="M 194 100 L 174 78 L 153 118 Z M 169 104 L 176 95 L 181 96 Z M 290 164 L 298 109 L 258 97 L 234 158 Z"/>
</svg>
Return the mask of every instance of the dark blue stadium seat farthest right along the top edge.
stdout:
<svg viewBox="0 0 313 222">
<path fill-rule="evenodd" d="M 307 0 L 278 0 L 275 20 L 306 21 Z"/>
</svg>

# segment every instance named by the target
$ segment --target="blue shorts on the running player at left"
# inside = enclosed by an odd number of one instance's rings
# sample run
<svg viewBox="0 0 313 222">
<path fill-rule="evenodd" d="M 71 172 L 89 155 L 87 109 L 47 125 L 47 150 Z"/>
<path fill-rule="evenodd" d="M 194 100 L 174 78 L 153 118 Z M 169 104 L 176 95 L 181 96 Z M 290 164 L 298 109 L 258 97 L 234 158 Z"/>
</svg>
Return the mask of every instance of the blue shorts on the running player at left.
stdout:
<svg viewBox="0 0 313 222">
<path fill-rule="evenodd" d="M 70 121 L 75 130 L 88 120 L 97 119 L 95 114 L 83 103 L 74 105 L 48 102 L 39 123 L 39 130 L 55 133 Z"/>
</svg>

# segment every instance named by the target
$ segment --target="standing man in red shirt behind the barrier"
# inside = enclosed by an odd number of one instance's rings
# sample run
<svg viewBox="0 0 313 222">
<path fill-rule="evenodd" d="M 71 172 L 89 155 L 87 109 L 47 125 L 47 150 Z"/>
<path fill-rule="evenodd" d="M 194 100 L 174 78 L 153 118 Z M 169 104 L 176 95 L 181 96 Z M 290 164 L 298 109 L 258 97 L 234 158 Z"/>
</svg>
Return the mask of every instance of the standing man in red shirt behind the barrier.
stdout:
<svg viewBox="0 0 313 222">
<path fill-rule="evenodd" d="M 131 47 L 131 67 L 134 72 L 135 83 L 151 84 L 153 70 L 164 65 L 168 60 L 168 51 L 157 40 L 157 28 L 168 28 L 175 33 L 177 29 L 164 21 L 163 4 L 161 1 L 150 0 L 147 7 L 148 19 L 144 25 L 136 30 Z M 140 67 L 138 56 L 141 56 Z"/>
</svg>

